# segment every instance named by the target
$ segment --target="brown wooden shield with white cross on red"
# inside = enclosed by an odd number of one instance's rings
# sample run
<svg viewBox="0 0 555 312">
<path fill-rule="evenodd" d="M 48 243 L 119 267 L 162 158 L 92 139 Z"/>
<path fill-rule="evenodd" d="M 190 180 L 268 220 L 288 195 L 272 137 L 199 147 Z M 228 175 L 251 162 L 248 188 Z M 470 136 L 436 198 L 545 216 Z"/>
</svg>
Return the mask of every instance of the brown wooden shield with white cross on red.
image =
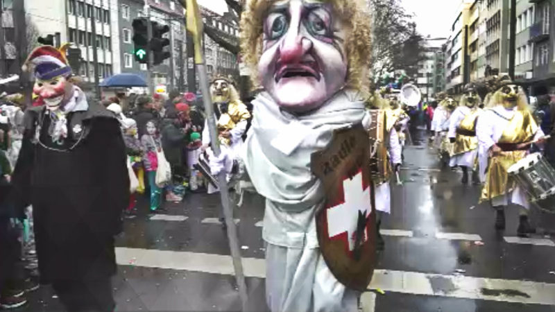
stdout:
<svg viewBox="0 0 555 312">
<path fill-rule="evenodd" d="M 325 150 L 311 155 L 311 169 L 325 188 L 316 214 L 324 260 L 341 284 L 366 291 L 375 268 L 376 225 L 370 145 L 362 125 L 335 130 Z"/>
</svg>

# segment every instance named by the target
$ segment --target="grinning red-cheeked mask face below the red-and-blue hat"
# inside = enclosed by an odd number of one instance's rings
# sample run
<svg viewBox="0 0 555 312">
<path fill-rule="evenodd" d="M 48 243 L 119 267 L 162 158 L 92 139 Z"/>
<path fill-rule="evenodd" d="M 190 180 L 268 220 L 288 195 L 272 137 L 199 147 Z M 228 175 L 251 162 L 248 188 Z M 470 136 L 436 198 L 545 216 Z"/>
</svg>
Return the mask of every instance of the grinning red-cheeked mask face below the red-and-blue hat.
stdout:
<svg viewBox="0 0 555 312">
<path fill-rule="evenodd" d="M 37 78 L 33 92 L 44 100 L 47 108 L 56 109 L 71 95 L 71 83 L 64 76 L 47 80 Z"/>
</svg>

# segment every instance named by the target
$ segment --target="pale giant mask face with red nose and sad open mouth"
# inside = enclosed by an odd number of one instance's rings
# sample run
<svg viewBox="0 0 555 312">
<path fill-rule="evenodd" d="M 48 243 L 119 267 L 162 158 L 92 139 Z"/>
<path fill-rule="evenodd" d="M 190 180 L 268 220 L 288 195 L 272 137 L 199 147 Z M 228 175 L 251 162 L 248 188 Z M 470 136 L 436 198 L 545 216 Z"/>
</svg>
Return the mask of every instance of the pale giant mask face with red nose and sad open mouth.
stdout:
<svg viewBox="0 0 555 312">
<path fill-rule="evenodd" d="M 345 33 L 330 3 L 275 1 L 264 19 L 258 63 L 264 89 L 292 112 L 322 105 L 345 85 Z"/>
</svg>

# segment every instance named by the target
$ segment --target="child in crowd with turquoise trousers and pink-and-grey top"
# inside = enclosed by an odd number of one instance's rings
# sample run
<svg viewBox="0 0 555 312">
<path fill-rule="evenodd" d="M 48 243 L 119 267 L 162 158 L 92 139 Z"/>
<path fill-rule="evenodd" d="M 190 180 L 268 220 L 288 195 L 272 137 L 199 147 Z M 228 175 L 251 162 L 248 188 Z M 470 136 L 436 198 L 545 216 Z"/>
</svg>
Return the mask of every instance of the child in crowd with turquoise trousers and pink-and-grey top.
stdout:
<svg viewBox="0 0 555 312">
<path fill-rule="evenodd" d="M 162 151 L 162 140 L 156 128 L 154 120 L 146 123 L 146 129 L 141 138 L 143 148 L 143 164 L 146 176 L 148 177 L 148 185 L 151 188 L 151 209 L 150 212 L 154 213 L 157 210 L 162 210 L 160 206 L 162 198 L 162 189 L 156 185 L 156 169 L 158 168 L 157 153 Z"/>
</svg>

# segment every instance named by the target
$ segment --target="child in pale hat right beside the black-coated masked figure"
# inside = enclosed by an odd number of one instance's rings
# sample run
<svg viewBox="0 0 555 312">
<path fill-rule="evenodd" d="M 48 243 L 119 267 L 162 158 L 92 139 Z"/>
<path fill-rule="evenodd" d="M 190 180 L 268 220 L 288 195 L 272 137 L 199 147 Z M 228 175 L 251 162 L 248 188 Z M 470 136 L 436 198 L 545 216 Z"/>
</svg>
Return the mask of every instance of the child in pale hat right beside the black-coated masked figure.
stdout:
<svg viewBox="0 0 555 312">
<path fill-rule="evenodd" d="M 121 132 L 123 134 L 123 141 L 126 144 L 126 152 L 129 157 L 133 171 L 139 180 L 139 187 L 136 193 L 144 192 L 144 171 L 142 168 L 143 148 L 141 141 L 137 135 L 137 122 L 134 119 L 126 118 L 121 121 Z M 135 212 L 135 204 L 137 198 L 135 193 L 132 193 L 129 198 L 129 206 L 126 209 L 126 215 L 132 216 Z"/>
</svg>

